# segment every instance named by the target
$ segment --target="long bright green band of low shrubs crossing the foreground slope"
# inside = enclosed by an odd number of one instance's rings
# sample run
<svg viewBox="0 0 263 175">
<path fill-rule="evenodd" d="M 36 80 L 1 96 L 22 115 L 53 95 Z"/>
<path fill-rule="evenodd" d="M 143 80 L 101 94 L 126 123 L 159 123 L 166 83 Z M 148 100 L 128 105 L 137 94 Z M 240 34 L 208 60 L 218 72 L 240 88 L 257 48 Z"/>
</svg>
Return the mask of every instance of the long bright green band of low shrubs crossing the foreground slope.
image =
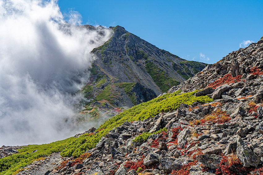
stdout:
<svg viewBox="0 0 263 175">
<path fill-rule="evenodd" d="M 28 147 L 19 149 L 18 154 L 13 154 L 0 159 L 0 174 L 11 175 L 17 169 L 30 164 L 35 159 L 48 156 L 53 152 L 61 151 L 60 154 L 64 157 L 79 157 L 88 149 L 96 147 L 96 144 L 99 142 L 101 137 L 109 133 L 109 131 L 114 127 L 122 125 L 125 121 L 142 121 L 144 119 L 154 117 L 160 112 L 176 110 L 179 108 L 181 103 L 191 105 L 194 102 L 207 103 L 213 101 L 212 98 L 207 96 L 193 96 L 196 92 L 197 90 L 190 93 L 180 94 L 181 91 L 176 91 L 172 94 L 165 94 L 148 102 L 140 103 L 139 105 L 133 106 L 132 108 L 125 110 L 104 122 L 93 134 L 84 134 L 78 138 L 71 137 L 65 140 L 52 142 L 50 144 L 29 145 Z M 142 139 L 145 139 L 147 134 L 141 137 Z M 140 138 L 138 138 L 138 140 L 139 139 Z M 32 153 L 37 149 L 37 152 Z"/>
</svg>

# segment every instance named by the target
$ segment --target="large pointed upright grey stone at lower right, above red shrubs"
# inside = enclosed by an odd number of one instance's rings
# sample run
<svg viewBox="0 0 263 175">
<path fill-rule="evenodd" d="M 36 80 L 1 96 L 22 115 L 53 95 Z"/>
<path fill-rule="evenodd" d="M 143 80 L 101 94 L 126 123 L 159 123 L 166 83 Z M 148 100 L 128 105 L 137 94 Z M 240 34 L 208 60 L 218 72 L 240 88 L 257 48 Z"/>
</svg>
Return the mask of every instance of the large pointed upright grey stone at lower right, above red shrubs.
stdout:
<svg viewBox="0 0 263 175">
<path fill-rule="evenodd" d="M 244 167 L 257 167 L 257 165 L 261 164 L 260 158 L 248 148 L 247 144 L 239 135 L 236 135 L 236 145 L 236 155 Z"/>
</svg>

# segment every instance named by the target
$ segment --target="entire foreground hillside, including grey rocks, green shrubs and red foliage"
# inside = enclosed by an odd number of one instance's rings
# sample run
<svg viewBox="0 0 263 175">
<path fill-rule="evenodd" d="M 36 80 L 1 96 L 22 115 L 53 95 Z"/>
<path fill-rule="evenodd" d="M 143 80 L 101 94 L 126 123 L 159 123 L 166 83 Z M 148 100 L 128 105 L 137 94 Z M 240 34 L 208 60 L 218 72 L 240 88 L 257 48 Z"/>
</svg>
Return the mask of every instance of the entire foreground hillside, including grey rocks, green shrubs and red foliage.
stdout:
<svg viewBox="0 0 263 175">
<path fill-rule="evenodd" d="M 20 175 L 261 175 L 262 100 L 263 39 L 97 129 L 4 154 L 0 170 L 11 174 L 20 168 L 15 172 Z M 28 165 L 13 161 L 23 156 Z"/>
</svg>

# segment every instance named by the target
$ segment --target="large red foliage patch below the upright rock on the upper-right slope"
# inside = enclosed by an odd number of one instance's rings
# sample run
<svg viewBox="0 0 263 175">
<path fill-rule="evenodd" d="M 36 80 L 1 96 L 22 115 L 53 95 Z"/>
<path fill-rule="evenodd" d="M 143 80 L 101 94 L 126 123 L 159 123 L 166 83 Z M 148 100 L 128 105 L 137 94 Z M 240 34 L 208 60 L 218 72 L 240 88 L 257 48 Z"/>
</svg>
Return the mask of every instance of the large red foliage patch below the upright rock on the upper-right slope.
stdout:
<svg viewBox="0 0 263 175">
<path fill-rule="evenodd" d="M 236 83 L 239 82 L 241 79 L 241 75 L 238 75 L 236 77 L 232 77 L 230 74 L 224 75 L 224 77 L 219 78 L 218 80 L 214 81 L 213 83 L 210 83 L 207 87 L 210 87 L 212 89 L 216 89 L 218 86 L 224 85 L 224 84 L 230 84 L 230 83 Z"/>
</svg>

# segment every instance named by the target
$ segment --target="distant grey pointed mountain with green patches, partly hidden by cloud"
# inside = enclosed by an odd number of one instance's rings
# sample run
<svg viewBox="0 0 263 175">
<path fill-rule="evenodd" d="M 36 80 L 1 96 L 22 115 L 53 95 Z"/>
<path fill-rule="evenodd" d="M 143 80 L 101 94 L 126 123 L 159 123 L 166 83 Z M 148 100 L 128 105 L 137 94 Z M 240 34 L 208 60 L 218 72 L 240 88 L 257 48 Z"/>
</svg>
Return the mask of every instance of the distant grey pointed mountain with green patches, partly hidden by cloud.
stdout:
<svg viewBox="0 0 263 175">
<path fill-rule="evenodd" d="M 96 30 L 90 25 L 84 27 Z M 92 51 L 96 59 L 82 90 L 87 101 L 81 114 L 108 111 L 114 115 L 114 108 L 147 102 L 207 66 L 161 50 L 121 26 L 110 29 L 112 37 Z"/>
</svg>

